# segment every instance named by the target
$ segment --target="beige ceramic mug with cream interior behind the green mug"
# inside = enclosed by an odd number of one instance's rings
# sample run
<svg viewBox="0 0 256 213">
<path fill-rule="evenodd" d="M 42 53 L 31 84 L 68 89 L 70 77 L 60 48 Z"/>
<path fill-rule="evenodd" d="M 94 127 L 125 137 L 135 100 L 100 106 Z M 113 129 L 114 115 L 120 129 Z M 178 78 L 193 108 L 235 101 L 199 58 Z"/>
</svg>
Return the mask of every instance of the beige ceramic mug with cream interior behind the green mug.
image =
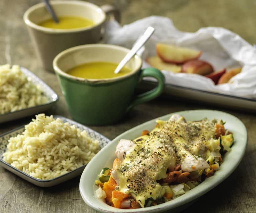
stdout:
<svg viewBox="0 0 256 213">
<path fill-rule="evenodd" d="M 92 26 L 77 29 L 53 29 L 39 26 L 38 24 L 50 19 L 44 3 L 30 7 L 23 19 L 28 27 L 30 37 L 35 45 L 36 53 L 42 66 L 49 71 L 54 71 L 52 61 L 61 51 L 70 47 L 97 43 L 102 38 L 102 31 L 107 15 L 113 14 L 119 21 L 119 11 L 110 5 L 98 7 L 84 1 L 51 1 L 57 16 L 78 16 L 90 19 Z"/>
</svg>

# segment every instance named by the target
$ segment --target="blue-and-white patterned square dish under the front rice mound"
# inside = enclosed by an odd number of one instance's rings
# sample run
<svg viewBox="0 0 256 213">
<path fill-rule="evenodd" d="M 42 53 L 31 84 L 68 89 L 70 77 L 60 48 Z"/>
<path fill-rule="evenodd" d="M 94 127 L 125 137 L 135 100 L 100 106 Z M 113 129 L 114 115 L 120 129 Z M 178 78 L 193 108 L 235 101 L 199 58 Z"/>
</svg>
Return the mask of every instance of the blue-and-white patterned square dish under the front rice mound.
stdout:
<svg viewBox="0 0 256 213">
<path fill-rule="evenodd" d="M 100 149 L 102 149 L 104 146 L 106 146 L 106 145 L 110 142 L 110 140 L 109 140 L 108 138 L 106 138 L 105 136 L 101 135 L 100 133 L 98 133 L 98 132 L 96 132 L 96 131 L 90 129 L 89 127 L 86 127 L 86 126 L 84 126 L 84 125 L 82 125 L 82 124 L 80 124 L 80 123 L 77 123 L 77 122 L 75 122 L 75 121 L 73 121 L 73 120 L 71 120 L 71 119 L 65 118 L 65 117 L 60 116 L 60 115 L 53 115 L 53 117 L 54 117 L 55 119 L 56 119 L 56 118 L 60 118 L 63 122 L 68 122 L 70 125 L 75 125 L 77 128 L 79 128 L 79 129 L 81 129 L 81 130 L 85 130 L 85 131 L 87 132 L 87 134 L 88 134 L 89 137 L 91 137 L 91 138 L 94 139 L 94 140 L 98 140 L 98 141 L 99 141 L 99 147 L 100 147 Z M 0 165 L 1 165 L 1 164 L 5 164 L 5 165 L 7 165 L 8 167 L 11 167 L 11 168 L 14 169 L 15 171 L 19 172 L 20 174 L 22 174 L 22 175 L 24 175 L 24 176 L 26 176 L 26 177 L 28 177 L 28 178 L 30 178 L 30 179 L 36 181 L 36 182 L 41 182 L 41 183 L 47 183 L 47 182 L 55 181 L 55 180 L 57 180 L 57 179 L 61 179 L 61 178 L 65 177 L 65 176 L 68 176 L 68 175 L 70 175 L 70 174 L 76 172 L 77 170 L 81 170 L 82 168 L 85 168 L 85 166 L 87 165 L 87 164 L 85 164 L 85 165 L 83 165 L 83 166 L 81 166 L 81 167 L 78 167 L 78 168 L 76 168 L 76 169 L 74 169 L 74 170 L 72 170 L 72 171 L 70 171 L 70 172 L 67 172 L 66 174 L 63 174 L 63 175 L 58 176 L 58 177 L 56 177 L 56 178 L 52 178 L 52 179 L 50 179 L 50 180 L 41 180 L 41 179 L 37 179 L 37 178 L 35 178 L 35 177 L 32 177 L 32 176 L 28 175 L 27 173 L 25 173 L 25 172 L 23 172 L 23 171 L 21 171 L 21 170 L 15 168 L 14 166 L 8 164 L 7 162 L 5 162 L 5 161 L 3 160 L 3 153 L 4 153 L 4 152 L 6 151 L 6 149 L 7 149 L 8 140 L 9 140 L 11 137 L 15 137 L 15 136 L 17 136 L 18 134 L 22 134 L 24 130 L 25 130 L 25 127 L 24 127 L 24 126 L 21 126 L 21 127 L 18 127 L 18 128 L 16 128 L 16 129 L 13 129 L 13 130 L 11 130 L 11 131 L 8 131 L 8 132 L 6 132 L 6 133 L 0 135 Z M 81 172 L 82 172 L 82 171 L 81 171 Z"/>
</svg>

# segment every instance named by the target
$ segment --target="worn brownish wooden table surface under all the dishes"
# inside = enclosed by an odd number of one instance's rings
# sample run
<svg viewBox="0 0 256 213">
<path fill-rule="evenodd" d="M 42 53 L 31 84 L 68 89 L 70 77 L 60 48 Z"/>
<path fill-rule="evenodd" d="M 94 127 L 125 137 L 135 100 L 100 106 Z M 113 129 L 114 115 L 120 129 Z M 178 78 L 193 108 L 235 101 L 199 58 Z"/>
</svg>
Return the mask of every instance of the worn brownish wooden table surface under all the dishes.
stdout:
<svg viewBox="0 0 256 213">
<path fill-rule="evenodd" d="M 19 64 L 34 72 L 60 97 L 56 106 L 45 113 L 71 118 L 55 74 L 46 72 L 38 64 L 23 23 L 25 10 L 38 2 L 40 1 L 0 1 L 0 64 Z M 128 24 L 150 15 L 161 15 L 171 18 L 175 26 L 182 31 L 195 32 L 201 27 L 219 26 L 234 31 L 251 44 L 256 43 L 255 0 L 93 0 L 91 2 L 97 5 L 110 3 L 118 7 L 122 12 L 121 24 Z M 238 117 L 247 128 L 249 140 L 246 154 L 233 174 L 183 212 L 256 212 L 254 113 L 172 97 L 160 97 L 136 106 L 116 125 L 89 127 L 113 139 L 120 133 L 150 119 L 191 109 L 217 109 Z M 28 123 L 31 118 L 0 124 L 0 134 Z M 82 200 L 78 189 L 79 179 L 80 177 L 77 177 L 54 187 L 40 188 L 0 167 L 0 212 L 97 212 Z"/>
</svg>

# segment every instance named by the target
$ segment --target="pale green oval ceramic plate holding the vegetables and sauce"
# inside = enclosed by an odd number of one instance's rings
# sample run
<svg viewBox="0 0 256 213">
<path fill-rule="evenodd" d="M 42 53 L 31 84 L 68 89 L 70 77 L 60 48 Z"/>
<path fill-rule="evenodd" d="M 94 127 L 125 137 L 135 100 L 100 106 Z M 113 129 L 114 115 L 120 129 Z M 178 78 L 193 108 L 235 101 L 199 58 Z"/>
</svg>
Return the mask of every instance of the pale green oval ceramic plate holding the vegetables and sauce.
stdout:
<svg viewBox="0 0 256 213">
<path fill-rule="evenodd" d="M 140 209 L 118 209 L 112 206 L 107 205 L 102 200 L 97 199 L 94 196 L 96 186 L 94 184 L 95 180 L 98 178 L 99 172 L 104 167 L 112 168 L 113 160 L 116 158 L 115 150 L 116 145 L 118 144 L 120 139 L 134 139 L 141 135 L 143 130 L 152 130 L 156 125 L 156 119 L 161 120 L 168 120 L 173 114 L 180 114 L 183 116 L 187 121 L 195 121 L 201 120 L 203 118 L 208 119 L 222 119 L 226 121 L 225 128 L 229 129 L 233 133 L 234 136 L 234 144 L 231 147 L 231 151 L 225 153 L 223 157 L 223 163 L 220 165 L 218 171 L 214 173 L 213 176 L 207 178 L 205 181 L 200 183 L 198 186 L 193 188 L 192 190 L 186 192 L 182 196 L 171 200 L 166 203 L 162 203 L 156 206 L 140 208 Z M 107 213 L 118 213 L 118 212 L 140 212 L 140 213 L 149 213 L 149 212 L 172 212 L 177 213 L 183 210 L 184 208 L 188 207 L 191 203 L 193 203 L 196 199 L 200 196 L 205 194 L 206 192 L 210 191 L 222 181 L 224 181 L 235 168 L 239 165 L 240 161 L 242 160 L 246 145 L 247 145 L 247 131 L 242 123 L 238 118 L 235 116 L 215 110 L 189 110 L 189 111 L 181 111 L 175 112 L 172 114 L 168 114 L 162 116 L 160 118 L 156 118 L 146 123 L 143 123 L 139 126 L 136 126 L 121 135 L 117 136 L 112 142 L 110 142 L 106 147 L 104 147 L 94 158 L 89 162 L 87 167 L 84 169 L 80 184 L 79 190 L 83 200 L 89 205 L 91 208 L 99 212 L 107 212 Z M 102 160 L 104 159 L 104 160 Z M 94 172 L 91 172 L 91 171 Z M 225 193 L 225 192 L 223 192 Z M 215 198 L 213 198 L 215 199 Z"/>
</svg>

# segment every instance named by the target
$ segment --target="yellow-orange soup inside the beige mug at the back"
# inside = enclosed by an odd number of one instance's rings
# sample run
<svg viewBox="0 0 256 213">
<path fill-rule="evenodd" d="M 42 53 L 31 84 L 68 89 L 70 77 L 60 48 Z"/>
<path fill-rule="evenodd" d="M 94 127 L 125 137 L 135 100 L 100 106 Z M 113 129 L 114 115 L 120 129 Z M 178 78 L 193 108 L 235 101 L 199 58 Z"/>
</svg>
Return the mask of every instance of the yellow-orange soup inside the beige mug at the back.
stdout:
<svg viewBox="0 0 256 213">
<path fill-rule="evenodd" d="M 39 26 L 53 29 L 76 29 L 94 25 L 92 20 L 79 16 L 60 16 L 58 19 L 59 23 L 55 23 L 53 19 L 48 19 L 39 23 Z"/>
</svg>

